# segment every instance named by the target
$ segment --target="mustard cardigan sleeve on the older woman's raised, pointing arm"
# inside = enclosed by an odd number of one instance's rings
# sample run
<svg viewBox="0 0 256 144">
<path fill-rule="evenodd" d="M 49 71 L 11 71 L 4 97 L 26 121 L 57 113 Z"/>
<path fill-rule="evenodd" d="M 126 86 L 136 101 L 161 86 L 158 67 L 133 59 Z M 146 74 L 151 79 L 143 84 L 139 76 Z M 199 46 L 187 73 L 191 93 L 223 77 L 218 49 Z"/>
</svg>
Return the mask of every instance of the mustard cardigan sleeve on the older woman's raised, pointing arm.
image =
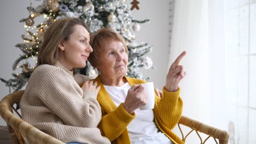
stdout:
<svg viewBox="0 0 256 144">
<path fill-rule="evenodd" d="M 163 88 L 162 98 L 155 97 L 154 113 L 158 121 L 167 128 L 173 129 L 182 115 L 183 102 L 179 97 L 180 89 L 176 92 L 167 92 Z"/>
</svg>

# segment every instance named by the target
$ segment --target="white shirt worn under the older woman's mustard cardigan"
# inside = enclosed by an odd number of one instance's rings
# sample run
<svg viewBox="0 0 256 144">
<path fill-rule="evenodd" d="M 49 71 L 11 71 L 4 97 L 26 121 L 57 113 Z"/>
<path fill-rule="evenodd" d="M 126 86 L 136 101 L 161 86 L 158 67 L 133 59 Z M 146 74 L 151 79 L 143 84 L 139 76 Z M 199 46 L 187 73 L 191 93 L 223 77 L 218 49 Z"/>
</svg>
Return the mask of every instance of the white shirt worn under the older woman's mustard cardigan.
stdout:
<svg viewBox="0 0 256 144">
<path fill-rule="evenodd" d="M 123 86 L 105 86 L 110 98 L 116 106 L 124 103 L 128 90 L 131 88 L 128 82 Z M 132 144 L 161 143 L 171 144 L 171 140 L 162 133 L 154 122 L 153 110 L 135 111 L 136 117 L 127 126 Z"/>
</svg>

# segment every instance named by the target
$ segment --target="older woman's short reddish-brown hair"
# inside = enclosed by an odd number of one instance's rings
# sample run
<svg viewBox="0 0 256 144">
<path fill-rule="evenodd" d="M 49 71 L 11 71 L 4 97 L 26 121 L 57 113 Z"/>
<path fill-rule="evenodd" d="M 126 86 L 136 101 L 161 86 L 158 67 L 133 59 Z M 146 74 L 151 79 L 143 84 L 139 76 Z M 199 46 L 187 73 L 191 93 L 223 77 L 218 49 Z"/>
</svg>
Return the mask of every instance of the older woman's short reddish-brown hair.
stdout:
<svg viewBox="0 0 256 144">
<path fill-rule="evenodd" d="M 128 55 L 128 49 L 124 38 L 119 33 L 114 31 L 114 29 L 110 27 L 103 27 L 96 33 L 90 33 L 90 45 L 93 51 L 90 53 L 88 61 L 92 67 L 96 68 L 100 64 L 101 52 L 104 51 L 104 48 L 109 40 L 118 40 L 123 43 L 125 52 Z"/>
</svg>

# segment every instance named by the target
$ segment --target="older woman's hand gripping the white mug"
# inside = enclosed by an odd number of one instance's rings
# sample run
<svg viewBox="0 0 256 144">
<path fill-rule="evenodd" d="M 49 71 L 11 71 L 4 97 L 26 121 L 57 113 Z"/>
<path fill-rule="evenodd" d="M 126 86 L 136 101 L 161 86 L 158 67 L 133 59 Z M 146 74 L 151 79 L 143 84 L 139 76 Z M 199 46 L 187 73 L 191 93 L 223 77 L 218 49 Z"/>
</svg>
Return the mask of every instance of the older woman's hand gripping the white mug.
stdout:
<svg viewBox="0 0 256 144">
<path fill-rule="evenodd" d="M 136 109 L 139 109 L 139 107 L 146 105 L 147 100 L 148 96 L 146 94 L 144 86 L 133 85 L 127 93 L 127 97 L 125 99 L 123 106 L 124 109 L 131 114 Z"/>
</svg>

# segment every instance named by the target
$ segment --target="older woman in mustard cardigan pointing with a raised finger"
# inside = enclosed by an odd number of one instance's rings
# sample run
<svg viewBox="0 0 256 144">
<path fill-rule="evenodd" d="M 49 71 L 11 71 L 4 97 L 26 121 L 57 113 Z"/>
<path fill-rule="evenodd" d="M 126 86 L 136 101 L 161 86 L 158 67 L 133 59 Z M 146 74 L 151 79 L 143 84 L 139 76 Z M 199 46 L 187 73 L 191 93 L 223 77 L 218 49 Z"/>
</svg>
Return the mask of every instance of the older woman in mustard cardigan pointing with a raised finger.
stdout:
<svg viewBox="0 0 256 144">
<path fill-rule="evenodd" d="M 126 77 L 128 50 L 124 39 L 111 28 L 91 34 L 94 50 L 88 58 L 100 75 L 97 100 L 102 119 L 98 128 L 113 143 L 183 143 L 171 129 L 182 114 L 179 82 L 185 76 L 179 65 L 183 52 L 171 65 L 162 97 L 155 97 L 153 110 L 139 110 L 146 104 L 143 85 L 146 81 Z M 156 96 L 156 94 L 155 94 Z"/>
</svg>

